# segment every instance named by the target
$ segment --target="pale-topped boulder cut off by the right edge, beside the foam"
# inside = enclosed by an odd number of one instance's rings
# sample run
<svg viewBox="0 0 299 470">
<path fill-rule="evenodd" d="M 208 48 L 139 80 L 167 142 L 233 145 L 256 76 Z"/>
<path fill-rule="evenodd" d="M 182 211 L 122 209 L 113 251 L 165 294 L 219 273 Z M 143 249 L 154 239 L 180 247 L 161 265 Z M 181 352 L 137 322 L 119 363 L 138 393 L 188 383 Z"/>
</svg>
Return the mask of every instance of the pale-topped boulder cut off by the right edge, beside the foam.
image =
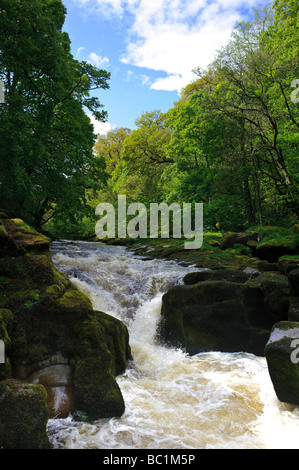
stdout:
<svg viewBox="0 0 299 470">
<path fill-rule="evenodd" d="M 279 322 L 273 326 L 265 357 L 277 398 L 299 405 L 299 322 Z"/>
</svg>

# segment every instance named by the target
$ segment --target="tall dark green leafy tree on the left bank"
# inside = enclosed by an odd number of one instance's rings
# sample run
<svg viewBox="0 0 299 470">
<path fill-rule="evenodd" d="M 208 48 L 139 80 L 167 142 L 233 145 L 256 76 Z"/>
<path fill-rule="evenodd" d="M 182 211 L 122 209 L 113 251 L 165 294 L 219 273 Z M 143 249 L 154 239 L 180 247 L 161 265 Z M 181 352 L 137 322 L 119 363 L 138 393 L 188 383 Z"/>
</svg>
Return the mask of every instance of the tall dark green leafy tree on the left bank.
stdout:
<svg viewBox="0 0 299 470">
<path fill-rule="evenodd" d="M 105 120 L 90 91 L 110 75 L 72 57 L 65 15 L 61 0 L 0 1 L 0 205 L 38 228 L 76 220 L 107 177 L 84 110 Z"/>
</svg>

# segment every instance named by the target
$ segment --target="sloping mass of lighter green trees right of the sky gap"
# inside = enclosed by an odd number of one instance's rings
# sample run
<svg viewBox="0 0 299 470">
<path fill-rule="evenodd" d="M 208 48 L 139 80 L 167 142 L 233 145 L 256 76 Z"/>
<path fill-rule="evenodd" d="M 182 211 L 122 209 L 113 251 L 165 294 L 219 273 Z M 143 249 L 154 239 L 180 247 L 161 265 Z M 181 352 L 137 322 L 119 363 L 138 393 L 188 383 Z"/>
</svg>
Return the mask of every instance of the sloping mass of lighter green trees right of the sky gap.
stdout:
<svg viewBox="0 0 299 470">
<path fill-rule="evenodd" d="M 276 0 L 238 24 L 167 113 L 144 113 L 111 172 L 115 194 L 203 202 L 206 228 L 298 219 L 299 6 Z"/>
</svg>

